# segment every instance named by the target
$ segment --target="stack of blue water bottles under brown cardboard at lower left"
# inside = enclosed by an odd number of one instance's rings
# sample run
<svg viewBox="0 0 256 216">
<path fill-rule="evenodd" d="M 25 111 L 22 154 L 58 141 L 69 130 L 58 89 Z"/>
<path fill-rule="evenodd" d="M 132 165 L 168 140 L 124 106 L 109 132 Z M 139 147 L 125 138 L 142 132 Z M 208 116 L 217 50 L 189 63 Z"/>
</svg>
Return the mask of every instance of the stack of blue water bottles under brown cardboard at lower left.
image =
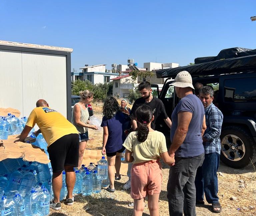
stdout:
<svg viewBox="0 0 256 216">
<path fill-rule="evenodd" d="M 52 176 L 48 164 L 22 162 L 20 159 L 1 161 L 0 215 L 49 215 Z M 14 166 L 20 167 L 12 171 Z M 2 175 L 2 170 L 6 174 Z"/>
</svg>

